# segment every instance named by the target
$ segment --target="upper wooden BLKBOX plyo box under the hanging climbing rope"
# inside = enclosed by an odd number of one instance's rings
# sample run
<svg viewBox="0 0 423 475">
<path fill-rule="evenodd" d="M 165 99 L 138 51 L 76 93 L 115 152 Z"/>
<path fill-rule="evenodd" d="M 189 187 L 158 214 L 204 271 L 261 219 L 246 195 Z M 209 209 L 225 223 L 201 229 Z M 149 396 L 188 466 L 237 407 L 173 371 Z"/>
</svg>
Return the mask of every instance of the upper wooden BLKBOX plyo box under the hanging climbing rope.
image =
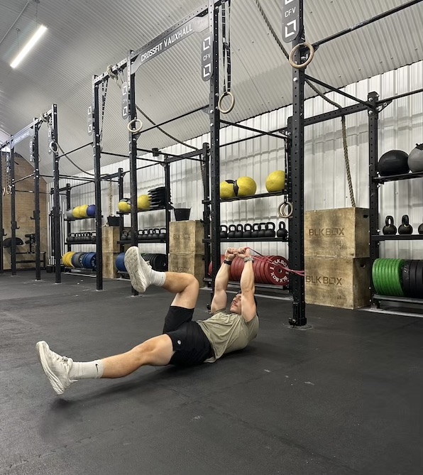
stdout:
<svg viewBox="0 0 423 475">
<path fill-rule="evenodd" d="M 369 210 L 339 208 L 305 212 L 304 255 L 369 257 Z"/>
</svg>

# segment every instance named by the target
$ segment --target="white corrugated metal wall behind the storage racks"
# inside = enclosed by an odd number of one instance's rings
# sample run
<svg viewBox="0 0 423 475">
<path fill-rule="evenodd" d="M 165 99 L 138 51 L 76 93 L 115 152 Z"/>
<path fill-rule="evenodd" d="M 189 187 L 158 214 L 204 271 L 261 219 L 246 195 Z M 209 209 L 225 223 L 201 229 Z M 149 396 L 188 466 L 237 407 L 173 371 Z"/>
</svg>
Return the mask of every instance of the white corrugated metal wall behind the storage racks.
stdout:
<svg viewBox="0 0 423 475">
<path fill-rule="evenodd" d="M 423 62 L 402 67 L 383 75 L 363 80 L 346 87 L 346 92 L 366 99 L 370 91 L 376 91 L 380 98 L 391 97 L 409 90 L 422 87 Z M 352 104 L 348 99 L 329 94 L 331 99 L 342 106 Z M 333 107 L 320 97 L 306 102 L 306 117 L 322 114 Z M 291 115 L 291 107 L 285 107 L 263 116 L 243 122 L 257 129 L 271 130 L 286 126 Z M 353 189 L 358 207 L 368 207 L 368 120 L 362 112 L 348 116 L 348 154 L 353 179 Z M 392 102 L 380 114 L 379 152 L 382 155 L 392 148 L 410 153 L 415 143 L 423 142 L 423 94 Z M 221 130 L 221 144 L 238 140 L 252 133 L 235 127 Z M 208 141 L 208 135 L 195 138 L 190 143 L 201 147 Z M 140 144 L 142 146 L 142 143 Z M 251 141 L 237 143 L 221 148 L 221 180 L 236 179 L 243 175 L 253 177 L 258 185 L 257 192 L 265 192 L 265 179 L 273 170 L 284 168 L 284 143 L 274 137 L 260 137 Z M 185 147 L 176 145 L 167 149 L 169 153 L 182 153 Z M 146 155 L 147 157 L 149 155 Z M 142 162 L 141 162 L 142 164 Z M 104 173 L 114 173 L 121 167 L 128 170 L 128 160 L 105 166 Z M 305 133 L 305 207 L 310 209 L 330 209 L 351 206 L 346 180 L 344 149 L 341 134 L 341 119 L 326 121 L 309 126 Z M 171 166 L 172 202 L 175 207 L 191 207 L 191 219 L 202 218 L 202 183 L 199 164 L 190 160 L 173 163 Z M 164 170 L 158 165 L 138 173 L 139 194 L 164 184 Z M 62 182 L 65 185 L 65 181 Z M 423 180 L 405 180 L 390 182 L 380 187 L 381 226 L 387 214 L 399 224 L 402 214 L 410 215 L 410 222 L 417 232 L 417 226 L 423 222 Z M 102 206 L 104 215 L 108 214 L 109 185 L 104 183 Z M 117 185 L 112 187 L 112 210 L 117 209 Z M 129 195 L 128 175 L 125 181 L 125 193 Z M 278 223 L 278 204 L 282 197 L 259 198 L 221 204 L 222 224 L 245 224 L 246 222 Z M 94 185 L 84 185 L 72 190 L 72 206 L 94 202 Z M 65 209 L 63 207 L 62 209 Z M 173 217 L 172 217 L 173 218 Z M 128 217 L 126 217 L 128 219 Z M 138 215 L 140 229 L 163 226 L 164 212 L 154 211 Z M 72 231 L 89 230 L 91 222 L 72 224 Z M 240 243 L 241 245 L 242 243 Z M 417 258 L 422 252 L 422 241 L 397 241 L 381 244 L 381 256 Z M 163 245 L 145 245 L 146 251 L 163 252 Z M 255 244 L 260 253 L 282 254 L 287 256 L 287 246 L 281 243 Z M 87 248 L 88 249 L 88 248 Z"/>
</svg>

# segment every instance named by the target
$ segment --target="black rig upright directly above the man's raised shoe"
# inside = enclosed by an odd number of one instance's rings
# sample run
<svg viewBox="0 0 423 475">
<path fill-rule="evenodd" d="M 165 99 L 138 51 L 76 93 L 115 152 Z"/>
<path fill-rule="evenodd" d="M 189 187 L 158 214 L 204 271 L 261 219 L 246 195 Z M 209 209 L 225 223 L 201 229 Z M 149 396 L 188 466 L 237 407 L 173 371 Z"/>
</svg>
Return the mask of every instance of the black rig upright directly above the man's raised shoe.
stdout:
<svg viewBox="0 0 423 475">
<path fill-rule="evenodd" d="M 128 53 L 128 62 L 126 65 L 128 72 L 128 124 L 136 119 L 136 102 L 135 102 L 135 72 L 132 72 L 131 51 Z M 136 177 L 137 150 L 136 143 L 138 133 L 128 132 L 129 143 L 129 177 L 131 182 L 131 245 L 138 246 L 138 205 L 137 190 L 138 183 Z M 138 295 L 138 292 L 132 288 L 132 295 Z"/>
</svg>

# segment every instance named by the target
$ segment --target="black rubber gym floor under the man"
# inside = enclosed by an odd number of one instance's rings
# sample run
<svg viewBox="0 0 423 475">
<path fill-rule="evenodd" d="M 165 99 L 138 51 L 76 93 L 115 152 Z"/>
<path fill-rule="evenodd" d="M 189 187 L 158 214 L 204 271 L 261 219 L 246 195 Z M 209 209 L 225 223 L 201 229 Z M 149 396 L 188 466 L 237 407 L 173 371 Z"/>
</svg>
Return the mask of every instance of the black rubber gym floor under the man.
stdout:
<svg viewBox="0 0 423 475">
<path fill-rule="evenodd" d="M 57 397 L 35 343 L 77 361 L 159 334 L 172 296 L 128 281 L 0 275 L 0 474 L 422 474 L 423 320 L 258 297 L 247 349 Z M 207 318 L 209 291 L 194 314 Z"/>
</svg>

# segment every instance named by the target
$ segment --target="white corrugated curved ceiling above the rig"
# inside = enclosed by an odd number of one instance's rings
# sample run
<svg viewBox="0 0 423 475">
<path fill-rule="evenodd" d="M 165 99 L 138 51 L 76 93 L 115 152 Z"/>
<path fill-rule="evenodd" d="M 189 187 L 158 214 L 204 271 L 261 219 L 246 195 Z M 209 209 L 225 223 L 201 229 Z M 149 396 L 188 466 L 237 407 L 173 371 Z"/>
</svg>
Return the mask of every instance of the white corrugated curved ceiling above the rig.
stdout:
<svg viewBox="0 0 423 475">
<path fill-rule="evenodd" d="M 275 31 L 280 35 L 280 0 L 260 0 Z M 304 0 L 307 41 L 313 43 L 351 27 L 383 11 L 406 4 L 405 0 Z M 205 2 L 204 2 L 205 4 Z M 100 2 L 40 0 L 38 18 L 33 0 L 0 0 L 0 129 L 16 133 L 56 103 L 59 111 L 59 143 L 65 151 L 88 143 L 87 107 L 92 101 L 92 75 L 123 60 L 129 49 L 140 48 L 188 13 L 201 0 L 144 0 Z M 236 107 L 227 116 L 241 121 L 292 102 L 292 70 L 265 25 L 254 0 L 232 0 L 232 84 Z M 31 55 L 16 69 L 9 62 L 34 31 L 36 23 L 48 26 Z M 322 45 L 307 73 L 336 87 L 423 60 L 423 4 L 384 18 Z M 18 28 L 18 31 L 16 30 Z M 200 39 L 195 34 L 149 61 L 136 77 L 136 102 L 156 122 L 170 119 L 208 102 L 208 84 L 200 77 Z M 287 45 L 287 50 L 290 45 Z M 314 95 L 307 88 L 306 97 Z M 365 99 L 366 97 L 362 97 Z M 103 147 L 126 154 L 128 136 L 121 119 L 120 89 L 109 82 Z M 145 126 L 148 126 L 145 120 Z M 206 114 L 198 112 L 165 126 L 180 140 L 207 132 Z M 46 153 L 47 133 L 41 132 L 42 173 L 51 174 Z M 174 141 L 157 129 L 141 136 L 141 148 L 169 146 Z M 28 144 L 17 151 L 28 156 Z M 71 155 L 84 170 L 91 170 L 92 151 Z M 120 160 L 104 156 L 102 164 Z M 79 170 L 61 160 L 62 173 Z"/>
</svg>

